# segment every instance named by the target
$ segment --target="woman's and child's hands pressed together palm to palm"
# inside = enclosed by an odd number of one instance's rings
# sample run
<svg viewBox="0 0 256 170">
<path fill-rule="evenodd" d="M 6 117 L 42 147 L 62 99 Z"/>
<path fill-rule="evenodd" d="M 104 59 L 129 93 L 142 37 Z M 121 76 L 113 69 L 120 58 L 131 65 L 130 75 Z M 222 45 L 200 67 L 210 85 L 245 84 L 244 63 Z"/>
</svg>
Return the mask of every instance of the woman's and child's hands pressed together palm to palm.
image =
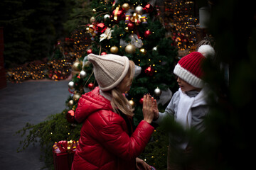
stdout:
<svg viewBox="0 0 256 170">
<path fill-rule="evenodd" d="M 145 94 L 143 97 L 143 108 L 142 108 L 144 120 L 147 123 L 151 123 L 153 120 L 159 118 L 159 110 L 157 108 L 156 99 L 150 96 L 150 94 Z"/>
</svg>

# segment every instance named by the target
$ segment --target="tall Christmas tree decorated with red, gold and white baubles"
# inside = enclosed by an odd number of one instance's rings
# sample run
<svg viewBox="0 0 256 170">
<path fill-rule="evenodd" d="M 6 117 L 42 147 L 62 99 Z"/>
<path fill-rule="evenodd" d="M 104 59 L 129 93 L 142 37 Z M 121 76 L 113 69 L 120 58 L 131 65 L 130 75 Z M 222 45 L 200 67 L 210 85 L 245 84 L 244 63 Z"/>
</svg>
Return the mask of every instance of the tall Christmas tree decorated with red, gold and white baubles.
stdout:
<svg viewBox="0 0 256 170">
<path fill-rule="evenodd" d="M 73 65 L 80 73 L 70 81 L 69 90 L 73 95 L 68 98 L 68 106 L 75 111 L 80 96 L 97 86 L 92 64 L 87 62 L 86 55 L 127 56 L 139 70 L 127 94 L 135 108 L 134 121 L 138 123 L 142 119 L 142 96 L 145 93 L 158 98 L 164 106 L 171 98 L 171 91 L 176 90 L 171 73 L 177 50 L 171 38 L 165 38 L 156 6 L 149 1 L 92 1 L 91 6 L 94 16 L 86 31 L 90 33 L 92 43 L 85 54 L 78 55 Z"/>
</svg>

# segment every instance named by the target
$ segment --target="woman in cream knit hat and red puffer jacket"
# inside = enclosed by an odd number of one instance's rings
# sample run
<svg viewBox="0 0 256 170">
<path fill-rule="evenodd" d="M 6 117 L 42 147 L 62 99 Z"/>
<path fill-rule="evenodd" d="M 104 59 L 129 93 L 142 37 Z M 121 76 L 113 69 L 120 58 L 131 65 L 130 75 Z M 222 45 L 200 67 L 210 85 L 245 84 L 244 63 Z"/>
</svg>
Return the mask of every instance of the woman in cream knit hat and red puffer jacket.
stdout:
<svg viewBox="0 0 256 170">
<path fill-rule="evenodd" d="M 87 59 L 99 86 L 82 95 L 75 111 L 83 125 L 72 169 L 151 169 L 137 157 L 154 132 L 154 98 L 144 95 L 144 120 L 134 129 L 134 110 L 123 95 L 132 85 L 134 62 L 119 55 L 90 54 Z"/>
</svg>

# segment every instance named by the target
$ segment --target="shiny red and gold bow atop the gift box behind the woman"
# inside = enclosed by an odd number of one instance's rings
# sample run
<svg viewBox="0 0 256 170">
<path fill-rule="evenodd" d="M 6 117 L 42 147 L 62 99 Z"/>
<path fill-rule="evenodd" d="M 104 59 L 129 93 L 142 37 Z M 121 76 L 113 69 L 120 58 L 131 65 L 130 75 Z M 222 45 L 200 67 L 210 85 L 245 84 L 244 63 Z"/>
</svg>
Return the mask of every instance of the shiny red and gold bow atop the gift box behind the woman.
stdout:
<svg viewBox="0 0 256 170">
<path fill-rule="evenodd" d="M 58 143 L 55 142 L 53 145 L 53 149 L 55 150 L 56 153 L 75 152 L 77 147 L 78 147 L 78 142 L 75 142 L 74 140 L 70 140 L 70 141 L 60 140 Z"/>
</svg>

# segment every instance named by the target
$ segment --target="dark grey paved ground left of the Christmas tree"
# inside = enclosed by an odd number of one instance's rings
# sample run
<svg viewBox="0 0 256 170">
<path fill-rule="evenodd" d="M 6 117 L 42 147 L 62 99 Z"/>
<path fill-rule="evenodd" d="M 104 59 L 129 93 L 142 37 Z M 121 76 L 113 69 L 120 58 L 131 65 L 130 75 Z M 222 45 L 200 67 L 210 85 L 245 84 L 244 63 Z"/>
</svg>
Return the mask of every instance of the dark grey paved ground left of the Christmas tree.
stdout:
<svg viewBox="0 0 256 170">
<path fill-rule="evenodd" d="M 25 81 L 21 84 L 9 83 L 6 88 L 0 89 L 1 170 L 37 170 L 44 166 L 39 160 L 39 146 L 16 152 L 21 141 L 16 131 L 21 130 L 26 123 L 37 124 L 48 115 L 63 111 L 70 95 L 68 82 Z"/>
</svg>

